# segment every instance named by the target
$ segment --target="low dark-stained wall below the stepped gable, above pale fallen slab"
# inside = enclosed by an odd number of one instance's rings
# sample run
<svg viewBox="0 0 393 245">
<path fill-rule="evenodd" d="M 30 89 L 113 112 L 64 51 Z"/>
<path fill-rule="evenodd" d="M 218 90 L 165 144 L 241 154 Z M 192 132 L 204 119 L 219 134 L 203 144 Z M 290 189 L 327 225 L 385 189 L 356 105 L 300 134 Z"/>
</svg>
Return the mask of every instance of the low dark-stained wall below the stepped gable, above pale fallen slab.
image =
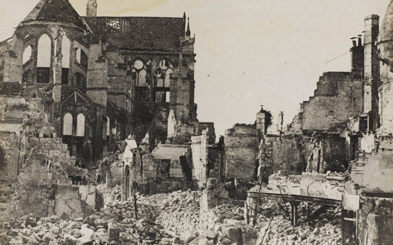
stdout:
<svg viewBox="0 0 393 245">
<path fill-rule="evenodd" d="M 259 175 L 272 173 L 345 171 L 348 168 L 345 139 L 339 135 L 266 135 L 259 146 Z"/>
</svg>

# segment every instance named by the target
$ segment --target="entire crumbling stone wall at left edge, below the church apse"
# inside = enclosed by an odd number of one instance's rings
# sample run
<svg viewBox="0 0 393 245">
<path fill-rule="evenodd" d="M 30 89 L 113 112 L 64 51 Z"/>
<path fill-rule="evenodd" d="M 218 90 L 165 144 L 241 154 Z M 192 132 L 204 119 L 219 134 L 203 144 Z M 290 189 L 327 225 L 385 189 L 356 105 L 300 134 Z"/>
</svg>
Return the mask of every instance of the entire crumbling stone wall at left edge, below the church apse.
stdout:
<svg viewBox="0 0 393 245">
<path fill-rule="evenodd" d="M 29 98 L 17 83 L 0 85 L 1 221 L 35 217 L 84 217 L 95 209 L 96 187 L 75 167 L 67 145 L 43 120 L 44 98 Z M 5 202 L 4 202 L 5 201 Z"/>
</svg>

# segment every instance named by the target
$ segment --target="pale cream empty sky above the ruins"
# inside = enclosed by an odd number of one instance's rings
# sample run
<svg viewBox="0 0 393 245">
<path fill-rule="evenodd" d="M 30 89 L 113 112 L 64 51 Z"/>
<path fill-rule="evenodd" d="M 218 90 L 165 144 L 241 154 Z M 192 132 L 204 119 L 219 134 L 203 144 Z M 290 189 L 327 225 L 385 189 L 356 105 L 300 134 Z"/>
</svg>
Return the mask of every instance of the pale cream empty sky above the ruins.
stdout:
<svg viewBox="0 0 393 245">
<path fill-rule="evenodd" d="M 0 0 L 0 40 L 39 0 Z M 70 0 L 85 15 L 87 0 Z M 263 104 L 290 123 L 323 72 L 349 71 L 351 37 L 364 17 L 383 21 L 389 0 L 98 0 L 99 16 L 190 17 L 196 35 L 198 119 L 217 136 L 253 123 Z"/>
</svg>

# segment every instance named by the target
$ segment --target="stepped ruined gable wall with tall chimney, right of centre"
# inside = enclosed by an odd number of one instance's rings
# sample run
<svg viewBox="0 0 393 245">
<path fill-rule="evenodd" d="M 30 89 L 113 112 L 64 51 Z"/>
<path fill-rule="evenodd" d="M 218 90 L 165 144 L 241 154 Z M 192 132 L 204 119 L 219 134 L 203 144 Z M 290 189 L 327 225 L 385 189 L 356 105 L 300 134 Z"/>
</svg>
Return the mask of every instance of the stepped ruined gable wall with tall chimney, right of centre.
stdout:
<svg viewBox="0 0 393 245">
<path fill-rule="evenodd" d="M 364 42 L 362 37 L 354 38 L 350 49 L 351 71 L 323 73 L 314 95 L 301 103 L 292 123 L 262 137 L 258 160 L 265 180 L 279 170 L 300 174 L 349 169 L 354 155 L 346 133 L 349 119 L 365 115 L 373 130 L 378 125 L 375 90 L 371 89 L 379 71 L 371 53 L 376 50 L 377 34 L 378 18 L 365 18 Z"/>
</svg>

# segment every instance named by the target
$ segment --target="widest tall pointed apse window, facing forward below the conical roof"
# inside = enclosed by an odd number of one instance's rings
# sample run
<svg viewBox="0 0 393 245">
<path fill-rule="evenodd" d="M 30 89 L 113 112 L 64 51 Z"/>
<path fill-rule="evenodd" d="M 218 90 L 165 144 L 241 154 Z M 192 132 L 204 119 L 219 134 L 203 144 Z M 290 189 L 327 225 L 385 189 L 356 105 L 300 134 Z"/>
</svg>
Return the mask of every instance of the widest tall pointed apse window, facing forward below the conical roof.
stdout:
<svg viewBox="0 0 393 245">
<path fill-rule="evenodd" d="M 38 40 L 37 83 L 49 83 L 52 41 L 47 34 Z"/>
</svg>

